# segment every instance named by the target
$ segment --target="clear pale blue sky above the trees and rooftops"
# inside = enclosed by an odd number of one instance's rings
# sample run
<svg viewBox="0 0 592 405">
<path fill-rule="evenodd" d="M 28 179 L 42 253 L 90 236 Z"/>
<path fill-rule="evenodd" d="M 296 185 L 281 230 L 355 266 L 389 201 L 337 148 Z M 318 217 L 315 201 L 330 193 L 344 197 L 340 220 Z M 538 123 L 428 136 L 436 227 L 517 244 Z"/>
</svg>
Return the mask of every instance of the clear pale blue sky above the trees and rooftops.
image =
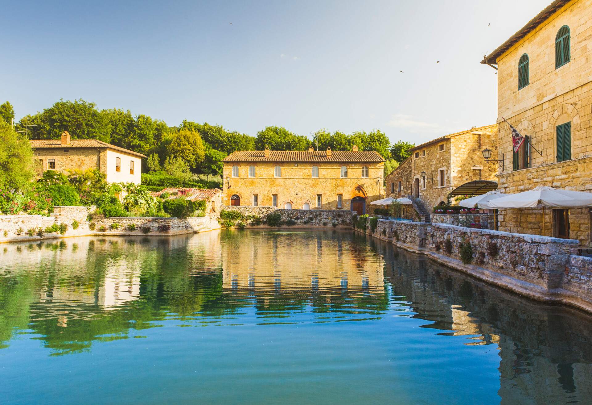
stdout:
<svg viewBox="0 0 592 405">
<path fill-rule="evenodd" d="M 421 143 L 496 122 L 482 57 L 549 2 L 8 1 L 0 103 Z"/>
</svg>

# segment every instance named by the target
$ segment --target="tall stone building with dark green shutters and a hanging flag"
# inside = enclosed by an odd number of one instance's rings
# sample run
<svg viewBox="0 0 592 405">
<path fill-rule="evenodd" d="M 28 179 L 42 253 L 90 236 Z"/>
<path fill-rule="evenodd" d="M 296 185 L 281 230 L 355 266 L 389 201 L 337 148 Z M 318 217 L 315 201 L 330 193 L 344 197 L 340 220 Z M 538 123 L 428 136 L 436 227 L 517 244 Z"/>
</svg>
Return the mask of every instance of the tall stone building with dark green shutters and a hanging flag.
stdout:
<svg viewBox="0 0 592 405">
<path fill-rule="evenodd" d="M 591 32 L 592 0 L 556 0 L 482 60 L 497 65 L 501 191 L 592 190 Z M 518 154 L 502 117 L 528 136 Z M 541 209 L 503 209 L 499 221 L 504 231 L 590 243 L 588 208 L 547 209 L 544 222 Z"/>
</svg>

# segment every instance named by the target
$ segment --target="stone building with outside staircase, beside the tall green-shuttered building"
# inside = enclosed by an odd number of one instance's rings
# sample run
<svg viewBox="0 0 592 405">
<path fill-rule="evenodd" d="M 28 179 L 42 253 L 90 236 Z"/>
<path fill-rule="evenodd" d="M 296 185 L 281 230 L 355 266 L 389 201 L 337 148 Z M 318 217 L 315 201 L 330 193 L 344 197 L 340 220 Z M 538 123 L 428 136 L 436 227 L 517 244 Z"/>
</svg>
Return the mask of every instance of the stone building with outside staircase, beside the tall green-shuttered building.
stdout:
<svg viewBox="0 0 592 405">
<path fill-rule="evenodd" d="M 496 180 L 497 166 L 485 162 L 483 149 L 497 159 L 497 125 L 472 127 L 440 136 L 411 149 L 411 156 L 387 175 L 387 197 L 412 196 L 420 215 L 446 203 L 458 186 L 475 180 Z M 429 216 L 429 215 L 427 215 Z"/>
</svg>

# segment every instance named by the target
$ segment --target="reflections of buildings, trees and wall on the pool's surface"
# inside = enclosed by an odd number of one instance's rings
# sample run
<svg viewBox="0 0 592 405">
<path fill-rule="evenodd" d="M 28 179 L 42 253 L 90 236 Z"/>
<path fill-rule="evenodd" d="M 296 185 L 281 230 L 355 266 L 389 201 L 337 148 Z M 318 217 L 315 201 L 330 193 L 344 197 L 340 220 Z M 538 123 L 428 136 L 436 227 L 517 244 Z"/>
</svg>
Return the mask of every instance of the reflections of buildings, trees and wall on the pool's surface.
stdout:
<svg viewBox="0 0 592 405">
<path fill-rule="evenodd" d="M 413 324 L 394 321 L 401 317 Z M 411 327 L 420 340 L 408 342 L 409 350 L 419 345 L 436 364 L 452 359 L 421 340 L 416 321 L 435 331 L 429 336 L 439 337 L 439 347 L 455 344 L 455 336 L 474 353 L 497 353 L 503 404 L 592 398 L 590 317 L 352 232 L 69 238 L 0 248 L 0 355 L 18 339 L 60 356 L 170 325 L 321 328 L 342 321 L 362 321 L 356 324 L 369 335 L 382 325 L 392 336 Z M 472 366 L 489 372 L 485 363 Z"/>
</svg>

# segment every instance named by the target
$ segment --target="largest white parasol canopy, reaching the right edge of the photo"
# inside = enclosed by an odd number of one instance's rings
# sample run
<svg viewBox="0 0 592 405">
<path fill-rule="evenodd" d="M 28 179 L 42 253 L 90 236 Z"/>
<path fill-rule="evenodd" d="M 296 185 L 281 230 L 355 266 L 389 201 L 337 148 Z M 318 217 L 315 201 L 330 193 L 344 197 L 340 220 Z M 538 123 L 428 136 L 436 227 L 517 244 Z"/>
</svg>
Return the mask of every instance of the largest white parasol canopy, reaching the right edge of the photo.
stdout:
<svg viewBox="0 0 592 405">
<path fill-rule="evenodd" d="M 592 193 L 539 186 L 527 192 L 510 194 L 487 203 L 491 208 L 577 208 L 592 206 Z"/>
</svg>

